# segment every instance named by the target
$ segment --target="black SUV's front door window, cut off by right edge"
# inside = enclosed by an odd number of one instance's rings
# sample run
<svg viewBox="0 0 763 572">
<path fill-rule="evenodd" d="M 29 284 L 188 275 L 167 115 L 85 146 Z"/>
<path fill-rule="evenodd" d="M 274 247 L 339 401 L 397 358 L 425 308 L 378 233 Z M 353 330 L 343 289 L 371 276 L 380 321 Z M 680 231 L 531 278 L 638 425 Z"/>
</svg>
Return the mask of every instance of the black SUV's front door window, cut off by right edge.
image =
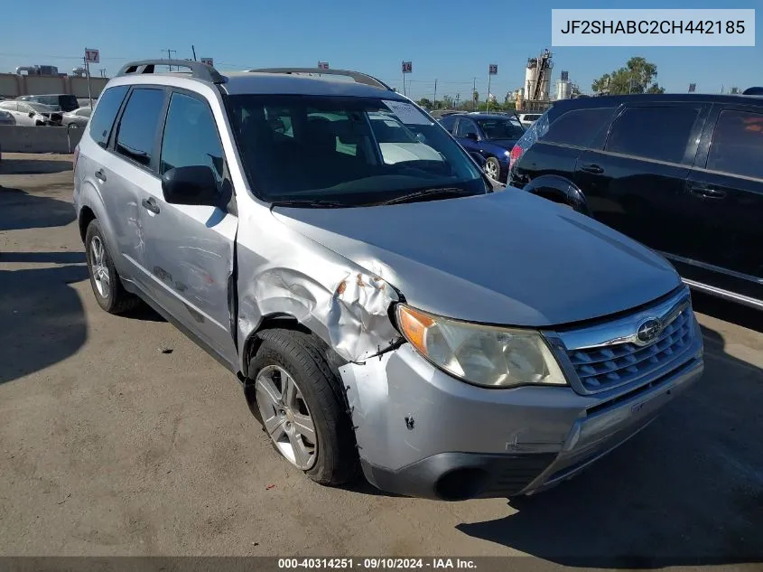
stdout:
<svg viewBox="0 0 763 572">
<path fill-rule="evenodd" d="M 763 179 L 763 114 L 721 111 L 707 168 Z"/>
</svg>

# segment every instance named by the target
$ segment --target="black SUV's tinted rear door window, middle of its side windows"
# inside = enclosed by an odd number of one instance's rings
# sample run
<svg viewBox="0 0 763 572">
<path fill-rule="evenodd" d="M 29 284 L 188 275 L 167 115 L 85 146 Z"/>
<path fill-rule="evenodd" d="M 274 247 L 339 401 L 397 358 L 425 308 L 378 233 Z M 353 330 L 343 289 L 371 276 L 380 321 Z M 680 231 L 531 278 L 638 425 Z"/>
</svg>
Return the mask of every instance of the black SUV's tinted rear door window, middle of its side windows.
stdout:
<svg viewBox="0 0 763 572">
<path fill-rule="evenodd" d="M 605 149 L 681 163 L 697 115 L 688 107 L 628 108 L 612 124 Z"/>
</svg>

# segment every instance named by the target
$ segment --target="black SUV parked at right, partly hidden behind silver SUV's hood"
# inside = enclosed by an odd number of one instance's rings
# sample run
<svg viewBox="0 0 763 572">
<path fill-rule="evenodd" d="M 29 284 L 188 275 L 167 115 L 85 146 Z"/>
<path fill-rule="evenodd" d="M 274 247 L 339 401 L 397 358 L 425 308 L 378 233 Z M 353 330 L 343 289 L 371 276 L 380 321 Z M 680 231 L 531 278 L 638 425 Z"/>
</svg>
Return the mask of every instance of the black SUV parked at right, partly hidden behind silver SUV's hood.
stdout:
<svg viewBox="0 0 763 572">
<path fill-rule="evenodd" d="M 763 98 L 563 100 L 510 161 L 509 185 L 639 240 L 697 290 L 763 309 Z"/>
</svg>

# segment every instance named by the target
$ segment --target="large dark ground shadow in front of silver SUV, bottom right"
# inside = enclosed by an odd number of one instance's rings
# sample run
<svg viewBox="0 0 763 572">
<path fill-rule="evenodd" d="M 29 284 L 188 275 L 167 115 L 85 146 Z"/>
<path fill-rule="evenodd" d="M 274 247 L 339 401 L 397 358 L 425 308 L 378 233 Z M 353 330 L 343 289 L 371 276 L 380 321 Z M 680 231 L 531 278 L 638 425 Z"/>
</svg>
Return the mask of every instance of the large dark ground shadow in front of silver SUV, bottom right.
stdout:
<svg viewBox="0 0 763 572">
<path fill-rule="evenodd" d="M 651 426 L 572 481 L 509 500 L 510 516 L 457 528 L 564 566 L 763 562 L 763 370 L 703 337 L 703 379 Z"/>
</svg>

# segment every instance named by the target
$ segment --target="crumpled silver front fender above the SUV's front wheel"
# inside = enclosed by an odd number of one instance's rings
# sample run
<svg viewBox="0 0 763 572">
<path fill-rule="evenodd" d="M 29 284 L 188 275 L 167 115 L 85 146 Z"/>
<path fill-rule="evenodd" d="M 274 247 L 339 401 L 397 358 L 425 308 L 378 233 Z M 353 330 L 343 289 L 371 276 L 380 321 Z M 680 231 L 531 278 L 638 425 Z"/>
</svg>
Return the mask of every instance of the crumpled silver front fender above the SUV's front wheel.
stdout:
<svg viewBox="0 0 763 572">
<path fill-rule="evenodd" d="M 244 349 L 242 370 L 247 341 L 271 315 L 293 316 L 346 361 L 367 360 L 401 340 L 390 320 L 390 306 L 399 296 L 383 277 L 274 219 L 267 222 L 279 227 L 277 243 L 266 238 L 272 235 L 261 221 L 262 232 L 256 236 L 239 234 L 237 329 L 238 347 Z M 284 248 L 284 241 L 290 248 Z"/>
</svg>

